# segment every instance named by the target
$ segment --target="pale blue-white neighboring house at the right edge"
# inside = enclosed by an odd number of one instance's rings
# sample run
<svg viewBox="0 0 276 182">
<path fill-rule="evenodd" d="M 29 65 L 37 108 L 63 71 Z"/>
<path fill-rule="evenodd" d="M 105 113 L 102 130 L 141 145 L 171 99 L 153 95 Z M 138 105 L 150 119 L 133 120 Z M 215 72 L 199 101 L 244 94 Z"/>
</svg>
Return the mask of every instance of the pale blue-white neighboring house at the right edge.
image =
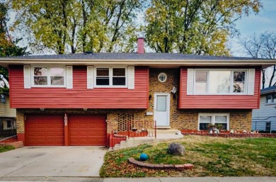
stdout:
<svg viewBox="0 0 276 182">
<path fill-rule="evenodd" d="M 276 131 L 276 86 L 260 90 L 260 108 L 252 110 L 252 130 Z"/>
</svg>

